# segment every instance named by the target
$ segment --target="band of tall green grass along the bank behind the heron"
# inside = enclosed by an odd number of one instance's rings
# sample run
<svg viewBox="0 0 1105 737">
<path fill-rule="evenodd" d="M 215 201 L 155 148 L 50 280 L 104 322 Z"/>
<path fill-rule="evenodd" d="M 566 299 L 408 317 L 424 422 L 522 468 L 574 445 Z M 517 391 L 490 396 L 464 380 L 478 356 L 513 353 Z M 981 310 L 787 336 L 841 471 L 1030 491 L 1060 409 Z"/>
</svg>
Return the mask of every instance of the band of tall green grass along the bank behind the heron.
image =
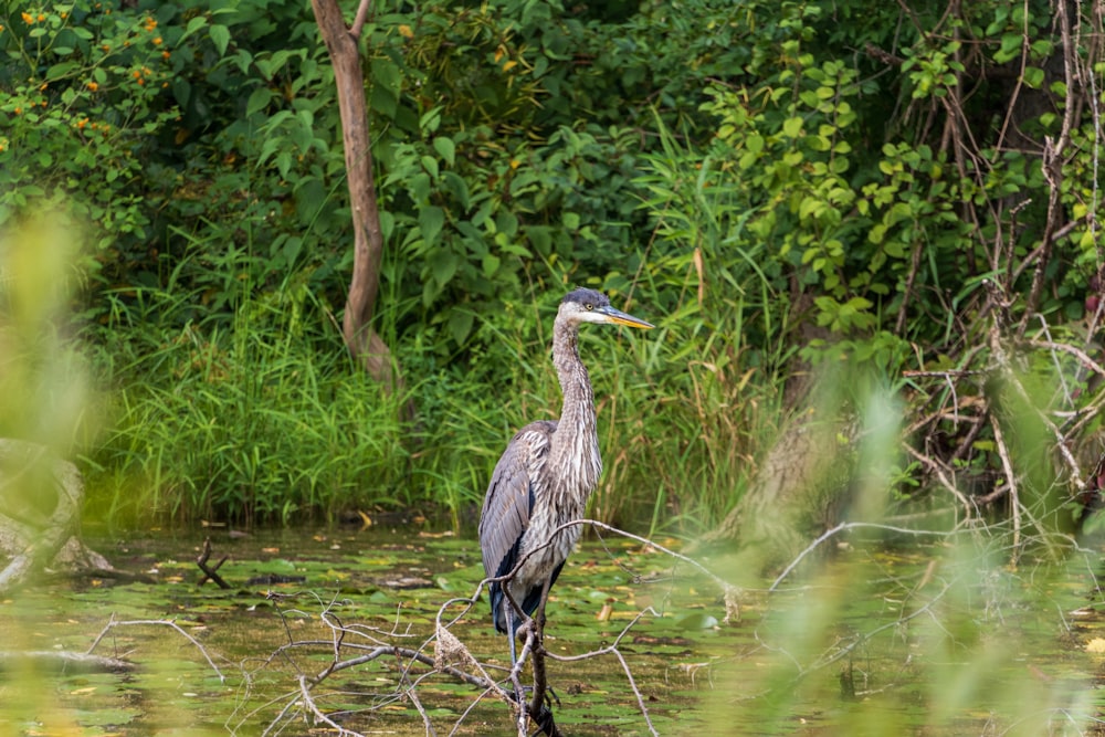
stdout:
<svg viewBox="0 0 1105 737">
<path fill-rule="evenodd" d="M 559 415 L 548 346 L 559 296 L 484 318 L 488 355 L 467 364 L 417 338 L 401 346 L 407 385 L 389 393 L 294 280 L 243 298 L 229 320 L 206 316 L 202 295 L 115 294 L 94 340 L 110 430 L 86 459 L 90 514 L 286 525 L 414 509 L 474 525 L 513 434 Z M 582 331 L 606 465 L 590 514 L 702 529 L 732 504 L 756 429 L 770 422 L 771 388 L 738 373 L 727 344 L 688 352 L 693 322 L 670 323 L 643 301 L 633 309 L 660 329 Z"/>
</svg>

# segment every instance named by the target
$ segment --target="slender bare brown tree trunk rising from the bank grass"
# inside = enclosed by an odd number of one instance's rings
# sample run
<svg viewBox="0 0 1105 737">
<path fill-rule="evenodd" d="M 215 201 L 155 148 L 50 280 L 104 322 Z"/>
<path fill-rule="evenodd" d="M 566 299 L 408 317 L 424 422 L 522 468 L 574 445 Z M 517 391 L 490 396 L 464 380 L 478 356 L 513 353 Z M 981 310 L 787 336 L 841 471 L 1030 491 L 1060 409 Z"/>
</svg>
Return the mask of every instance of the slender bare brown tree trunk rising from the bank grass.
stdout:
<svg viewBox="0 0 1105 737">
<path fill-rule="evenodd" d="M 346 25 L 337 0 L 311 0 L 311 7 L 334 64 L 349 185 L 349 211 L 354 225 L 352 277 L 349 281 L 341 331 L 349 352 L 360 361 L 369 376 L 389 389 L 398 389 L 399 377 L 392 372 L 391 352 L 383 339 L 369 326 L 379 292 L 380 263 L 383 259 L 383 233 L 380 230 L 372 154 L 369 149 L 365 76 L 358 48 L 369 0 L 361 0 L 352 27 Z"/>
</svg>

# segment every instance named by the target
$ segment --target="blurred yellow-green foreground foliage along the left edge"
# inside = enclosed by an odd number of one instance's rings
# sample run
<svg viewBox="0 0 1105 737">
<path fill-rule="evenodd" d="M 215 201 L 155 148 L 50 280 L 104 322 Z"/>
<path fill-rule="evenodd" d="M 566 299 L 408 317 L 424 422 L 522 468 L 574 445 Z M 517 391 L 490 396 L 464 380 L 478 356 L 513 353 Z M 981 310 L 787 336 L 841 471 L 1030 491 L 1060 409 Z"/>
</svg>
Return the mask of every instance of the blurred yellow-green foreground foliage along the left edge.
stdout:
<svg viewBox="0 0 1105 737">
<path fill-rule="evenodd" d="M 0 233 L 0 439 L 48 449 L 36 456 L 41 467 L 0 467 L 6 516 L 49 505 L 51 456 L 71 459 L 93 424 L 86 372 L 69 325 L 80 241 L 78 229 L 57 212 L 9 223 Z M 49 649 L 55 641 L 18 596 L 0 601 L 0 631 L 6 651 Z M 33 661 L 19 660 L 0 673 L 0 731 L 80 734 L 80 727 L 56 706 L 53 682 Z"/>
</svg>

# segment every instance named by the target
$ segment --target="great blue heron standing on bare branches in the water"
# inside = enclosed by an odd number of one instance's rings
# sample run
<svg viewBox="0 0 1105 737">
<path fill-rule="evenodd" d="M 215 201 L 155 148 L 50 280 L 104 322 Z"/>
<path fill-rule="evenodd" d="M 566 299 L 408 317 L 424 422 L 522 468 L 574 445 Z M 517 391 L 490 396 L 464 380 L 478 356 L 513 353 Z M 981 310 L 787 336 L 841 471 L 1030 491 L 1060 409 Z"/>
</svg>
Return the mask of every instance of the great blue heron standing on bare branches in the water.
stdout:
<svg viewBox="0 0 1105 737">
<path fill-rule="evenodd" d="M 557 531 L 580 519 L 602 472 L 594 428 L 594 394 L 587 367 L 579 359 L 579 326 L 583 323 L 654 327 L 610 306 L 594 289 L 569 292 L 552 324 L 552 365 L 560 379 L 560 420 L 538 420 L 518 431 L 495 465 L 483 512 L 480 548 L 491 585 L 495 629 L 509 636 L 511 663 L 517 662 L 515 638 L 520 617 L 511 599 L 530 615 L 556 581 L 579 539 L 580 526 Z M 509 597 L 506 596 L 509 592 Z"/>
</svg>

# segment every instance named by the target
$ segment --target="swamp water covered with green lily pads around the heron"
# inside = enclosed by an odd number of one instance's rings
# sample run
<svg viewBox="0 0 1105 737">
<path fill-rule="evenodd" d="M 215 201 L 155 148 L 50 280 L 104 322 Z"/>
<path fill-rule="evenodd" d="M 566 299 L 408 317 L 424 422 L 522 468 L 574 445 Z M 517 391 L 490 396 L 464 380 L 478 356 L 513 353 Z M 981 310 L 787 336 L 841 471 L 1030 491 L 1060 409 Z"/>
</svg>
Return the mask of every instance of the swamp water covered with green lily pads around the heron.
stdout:
<svg viewBox="0 0 1105 737">
<path fill-rule="evenodd" d="M 301 692 L 335 652 L 365 662 L 309 693 L 346 729 L 516 734 L 494 696 L 429 666 L 407 670 L 394 651 L 433 657 L 444 612 L 444 622 L 460 617 L 449 631 L 490 673 L 508 665 L 486 597 L 467 613 L 446 606 L 482 578 L 474 540 L 212 531 L 211 564 L 229 556 L 219 573 L 232 588 L 221 590 L 198 586 L 202 539 L 92 540 L 144 580 L 54 579 L 0 602 L 2 651 L 85 652 L 114 621 L 94 654 L 137 666 L 88 673 L 6 659 L 0 735 L 337 734 L 305 712 Z M 546 644 L 564 657 L 606 653 L 549 660 L 557 724 L 566 735 L 1105 734 L 1099 556 L 1014 568 L 994 548 L 856 543 L 770 593 L 772 581 L 741 575 L 738 559 L 696 557 L 744 587 L 739 619 L 725 622 L 708 576 L 638 541 L 589 535 L 554 589 Z"/>
</svg>

